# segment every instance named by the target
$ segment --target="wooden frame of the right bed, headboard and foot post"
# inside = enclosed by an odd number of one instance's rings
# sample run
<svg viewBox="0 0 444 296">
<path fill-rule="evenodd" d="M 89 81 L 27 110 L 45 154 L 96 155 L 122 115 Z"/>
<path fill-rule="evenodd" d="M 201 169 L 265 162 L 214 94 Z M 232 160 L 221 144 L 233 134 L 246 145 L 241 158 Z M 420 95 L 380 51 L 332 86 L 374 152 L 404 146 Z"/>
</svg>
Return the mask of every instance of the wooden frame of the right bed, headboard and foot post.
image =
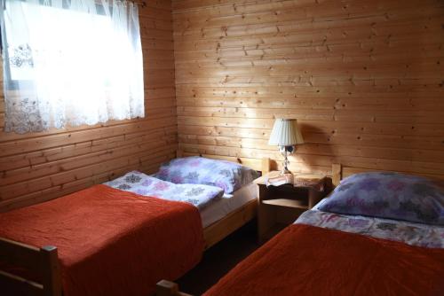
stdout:
<svg viewBox="0 0 444 296">
<path fill-rule="evenodd" d="M 386 171 L 389 170 L 381 170 L 381 169 L 369 169 L 364 167 L 345 167 L 341 164 L 332 164 L 331 165 L 331 180 L 334 187 L 336 187 L 342 179 L 349 175 L 354 175 L 363 172 L 375 172 L 375 171 Z M 407 173 L 412 174 L 412 173 Z M 415 174 L 415 175 L 424 175 L 424 174 Z M 435 178 L 444 179 L 444 175 L 424 175 L 424 176 L 432 176 Z M 174 282 L 170 282 L 168 280 L 162 280 L 156 285 L 156 296 L 192 296 L 185 292 L 180 292 L 178 290 L 178 284 Z"/>
</svg>

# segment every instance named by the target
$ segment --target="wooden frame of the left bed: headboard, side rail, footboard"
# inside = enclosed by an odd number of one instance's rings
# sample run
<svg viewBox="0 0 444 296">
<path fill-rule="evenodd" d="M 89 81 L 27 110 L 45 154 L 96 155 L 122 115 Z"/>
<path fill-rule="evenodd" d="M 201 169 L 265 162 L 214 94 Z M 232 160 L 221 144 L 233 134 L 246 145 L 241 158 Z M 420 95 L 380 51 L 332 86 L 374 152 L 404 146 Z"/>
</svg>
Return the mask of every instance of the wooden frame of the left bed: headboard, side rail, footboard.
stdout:
<svg viewBox="0 0 444 296">
<path fill-rule="evenodd" d="M 217 155 L 202 155 L 177 152 L 178 157 L 200 155 L 202 157 L 218 160 L 230 160 L 241 163 L 247 167 L 261 171 L 266 174 L 270 171 L 270 160 L 253 160 L 234 157 L 219 157 Z M 257 213 L 257 200 L 253 199 L 246 205 L 234 210 L 218 222 L 210 224 L 203 229 L 205 239 L 205 250 L 215 245 L 223 238 L 226 238 L 234 230 L 239 229 L 247 222 L 250 222 Z M 20 295 L 41 295 L 41 296 L 61 296 L 62 284 L 59 267 L 59 257 L 57 247 L 48 245 L 36 248 L 31 245 L 20 244 L 18 242 L 0 238 L 0 262 L 17 268 L 23 268 L 32 274 L 41 275 L 40 283 L 12 275 L 0 269 L 0 286 L 2 291 L 9 289 L 18 291 Z M 0 267 L 1 268 L 1 267 Z M 180 295 L 186 295 L 181 293 Z"/>
</svg>

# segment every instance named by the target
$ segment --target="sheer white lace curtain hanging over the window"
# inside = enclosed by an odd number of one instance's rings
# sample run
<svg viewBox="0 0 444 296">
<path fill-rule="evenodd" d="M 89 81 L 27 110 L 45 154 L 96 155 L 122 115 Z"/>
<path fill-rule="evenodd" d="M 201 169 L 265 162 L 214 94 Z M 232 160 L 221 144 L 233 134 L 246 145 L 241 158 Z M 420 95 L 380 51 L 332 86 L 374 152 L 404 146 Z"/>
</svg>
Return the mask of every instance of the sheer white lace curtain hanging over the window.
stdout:
<svg viewBox="0 0 444 296">
<path fill-rule="evenodd" d="M 136 4 L 4 1 L 5 131 L 144 116 Z"/>
</svg>

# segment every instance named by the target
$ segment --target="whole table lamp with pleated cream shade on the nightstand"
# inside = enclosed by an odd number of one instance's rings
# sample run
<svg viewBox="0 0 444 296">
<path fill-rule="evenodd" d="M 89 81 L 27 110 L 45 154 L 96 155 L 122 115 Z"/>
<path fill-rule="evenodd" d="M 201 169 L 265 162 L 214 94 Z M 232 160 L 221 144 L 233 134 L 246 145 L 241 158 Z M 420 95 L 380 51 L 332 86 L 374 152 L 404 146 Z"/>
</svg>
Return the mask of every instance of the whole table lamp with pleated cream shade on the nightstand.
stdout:
<svg viewBox="0 0 444 296">
<path fill-rule="evenodd" d="M 285 158 L 282 163 L 281 175 L 291 174 L 288 156 L 295 152 L 297 144 L 304 144 L 304 138 L 297 127 L 297 120 L 276 119 L 268 144 L 279 146 L 279 151 Z"/>
</svg>

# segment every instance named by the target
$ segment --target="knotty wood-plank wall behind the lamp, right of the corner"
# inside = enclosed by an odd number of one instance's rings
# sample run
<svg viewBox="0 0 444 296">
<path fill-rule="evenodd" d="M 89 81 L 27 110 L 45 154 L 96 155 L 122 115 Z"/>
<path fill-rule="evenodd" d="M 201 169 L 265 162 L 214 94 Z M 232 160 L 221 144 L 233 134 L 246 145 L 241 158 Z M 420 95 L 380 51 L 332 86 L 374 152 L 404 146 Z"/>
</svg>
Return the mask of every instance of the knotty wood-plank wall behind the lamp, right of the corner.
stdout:
<svg viewBox="0 0 444 296">
<path fill-rule="evenodd" d="M 186 152 L 444 173 L 442 0 L 173 0 L 178 141 Z"/>
</svg>

